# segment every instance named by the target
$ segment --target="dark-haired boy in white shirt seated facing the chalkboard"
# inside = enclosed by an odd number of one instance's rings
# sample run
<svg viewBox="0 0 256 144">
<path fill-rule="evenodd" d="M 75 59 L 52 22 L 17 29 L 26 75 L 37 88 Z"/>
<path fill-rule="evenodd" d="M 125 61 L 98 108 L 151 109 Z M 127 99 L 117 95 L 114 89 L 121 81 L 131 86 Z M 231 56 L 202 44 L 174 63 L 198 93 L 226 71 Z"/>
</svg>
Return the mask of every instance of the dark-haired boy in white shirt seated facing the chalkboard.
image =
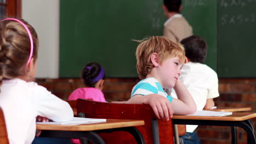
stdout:
<svg viewBox="0 0 256 144">
<path fill-rule="evenodd" d="M 203 64 L 206 59 L 207 45 L 205 40 L 192 35 L 181 41 L 185 48 L 186 62 L 181 70 L 179 79 L 192 95 L 197 110 L 211 109 L 213 98 L 219 97 L 218 76 L 216 72 Z M 177 98 L 175 91 L 171 96 Z M 187 133 L 181 136 L 183 143 L 200 143 L 196 133 L 197 125 L 186 125 Z M 190 141 L 190 142 L 189 142 Z"/>
</svg>

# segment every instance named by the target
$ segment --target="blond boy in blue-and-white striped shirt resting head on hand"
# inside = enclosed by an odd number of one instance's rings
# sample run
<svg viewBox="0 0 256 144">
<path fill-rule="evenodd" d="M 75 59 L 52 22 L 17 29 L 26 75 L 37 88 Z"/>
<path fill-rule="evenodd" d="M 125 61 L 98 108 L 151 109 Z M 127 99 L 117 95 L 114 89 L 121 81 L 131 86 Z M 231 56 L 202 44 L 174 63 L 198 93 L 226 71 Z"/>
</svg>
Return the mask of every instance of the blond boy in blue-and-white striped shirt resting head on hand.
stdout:
<svg viewBox="0 0 256 144">
<path fill-rule="evenodd" d="M 190 93 L 178 79 L 185 61 L 181 44 L 167 37 L 150 37 L 139 41 L 136 51 L 137 72 L 143 79 L 132 89 L 126 103 L 149 104 L 158 118 L 167 121 L 173 113 L 193 114 L 196 105 Z M 178 99 L 172 98 L 163 88 L 174 88 Z"/>
</svg>

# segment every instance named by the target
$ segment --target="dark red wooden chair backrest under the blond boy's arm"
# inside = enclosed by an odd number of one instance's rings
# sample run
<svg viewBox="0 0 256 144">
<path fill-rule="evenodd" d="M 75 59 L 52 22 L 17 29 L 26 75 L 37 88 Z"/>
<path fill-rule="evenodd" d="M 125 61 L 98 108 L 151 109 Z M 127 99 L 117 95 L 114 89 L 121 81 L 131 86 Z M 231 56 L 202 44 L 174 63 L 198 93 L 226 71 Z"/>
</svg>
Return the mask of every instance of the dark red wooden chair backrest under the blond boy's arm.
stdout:
<svg viewBox="0 0 256 144">
<path fill-rule="evenodd" d="M 141 119 L 145 125 L 136 127 L 143 135 L 146 143 L 153 143 L 152 119 L 156 116 L 152 107 L 146 104 L 113 104 L 98 101 L 78 99 L 77 112 L 85 113 L 88 118 L 109 118 L 109 119 Z M 158 119 L 160 143 L 173 143 L 172 119 L 165 121 Z M 106 134 L 107 135 L 107 134 Z M 101 135 L 102 136 L 102 135 Z M 112 137 L 113 136 L 113 137 Z M 135 139 L 123 131 L 115 134 L 108 134 L 103 137 L 106 143 L 136 143 Z"/>
</svg>

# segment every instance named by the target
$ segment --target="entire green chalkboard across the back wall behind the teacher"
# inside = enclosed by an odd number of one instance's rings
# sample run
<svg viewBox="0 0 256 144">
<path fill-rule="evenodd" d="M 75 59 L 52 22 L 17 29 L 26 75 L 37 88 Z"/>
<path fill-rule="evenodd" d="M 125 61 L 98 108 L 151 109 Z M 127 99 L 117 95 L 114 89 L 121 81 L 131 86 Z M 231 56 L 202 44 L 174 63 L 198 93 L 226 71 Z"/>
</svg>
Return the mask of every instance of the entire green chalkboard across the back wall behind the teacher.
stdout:
<svg viewBox="0 0 256 144">
<path fill-rule="evenodd" d="M 219 77 L 256 77 L 256 1 L 183 0 L 182 14 L 206 40 L 206 64 Z M 162 35 L 162 1 L 61 0 L 60 77 L 100 63 L 107 77 L 138 77 L 132 39 Z"/>
</svg>

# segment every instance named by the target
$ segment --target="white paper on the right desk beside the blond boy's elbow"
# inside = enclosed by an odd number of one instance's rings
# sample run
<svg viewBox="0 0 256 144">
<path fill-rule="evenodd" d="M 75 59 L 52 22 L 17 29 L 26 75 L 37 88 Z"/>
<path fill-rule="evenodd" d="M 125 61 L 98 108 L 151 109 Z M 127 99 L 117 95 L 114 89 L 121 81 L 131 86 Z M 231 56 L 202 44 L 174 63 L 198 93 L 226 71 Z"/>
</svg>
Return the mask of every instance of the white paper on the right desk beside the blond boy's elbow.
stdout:
<svg viewBox="0 0 256 144">
<path fill-rule="evenodd" d="M 220 111 L 196 111 L 193 115 L 185 116 L 209 116 L 209 117 L 223 117 L 232 115 L 232 112 L 220 112 Z"/>
</svg>

